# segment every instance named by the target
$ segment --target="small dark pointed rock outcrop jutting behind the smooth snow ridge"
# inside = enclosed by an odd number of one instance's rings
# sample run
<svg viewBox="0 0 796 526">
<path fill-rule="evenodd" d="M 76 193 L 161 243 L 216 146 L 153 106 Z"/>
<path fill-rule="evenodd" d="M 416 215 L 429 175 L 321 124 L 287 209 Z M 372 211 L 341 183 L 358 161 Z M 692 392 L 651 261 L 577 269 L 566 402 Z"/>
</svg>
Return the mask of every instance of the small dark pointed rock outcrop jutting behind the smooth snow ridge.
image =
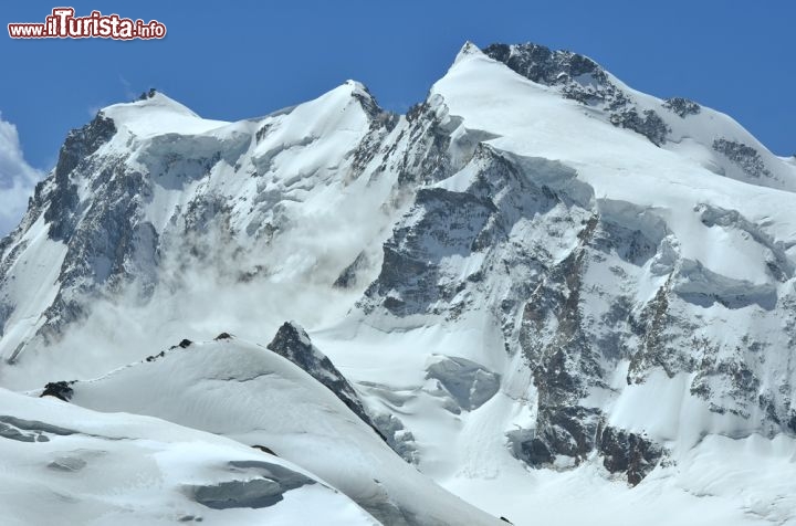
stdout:
<svg viewBox="0 0 796 526">
<path fill-rule="evenodd" d="M 352 385 L 348 383 L 348 380 L 345 379 L 332 361 L 312 344 L 310 336 L 300 325 L 295 322 L 285 322 L 276 332 L 276 336 L 268 345 L 268 348 L 307 371 L 313 378 L 334 392 L 357 417 L 380 434 Z"/>
</svg>

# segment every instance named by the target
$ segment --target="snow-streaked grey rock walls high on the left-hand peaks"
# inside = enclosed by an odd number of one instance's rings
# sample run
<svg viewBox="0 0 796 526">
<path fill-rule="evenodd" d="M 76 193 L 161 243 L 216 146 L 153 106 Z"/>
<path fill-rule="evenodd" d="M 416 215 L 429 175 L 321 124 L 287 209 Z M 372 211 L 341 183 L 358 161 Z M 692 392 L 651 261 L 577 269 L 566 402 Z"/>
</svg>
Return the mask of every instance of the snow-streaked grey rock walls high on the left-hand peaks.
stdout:
<svg viewBox="0 0 796 526">
<path fill-rule="evenodd" d="M 270 244 L 287 235 L 296 222 L 289 208 L 305 199 L 310 188 L 355 183 L 358 178 L 374 185 L 395 180 L 384 197 L 385 219 L 380 220 L 389 221 L 418 185 L 448 177 L 478 144 L 478 137 L 460 137 L 459 157 L 452 158 L 449 149 L 455 141 L 450 134 L 457 122 L 447 115 L 441 101 L 422 103 L 399 117 L 379 108 L 357 83 L 346 83 L 337 91 L 350 92 L 347 101 L 341 101 L 346 112 L 339 114 L 362 114 L 365 126 L 354 133 L 349 145 L 344 141 L 339 151 L 331 154 L 343 162 L 327 159 L 329 167 L 307 167 L 301 177 L 290 170 L 280 172 L 279 160 L 298 149 L 328 148 L 318 146 L 324 143 L 320 139 L 337 143 L 331 135 L 316 137 L 314 132 L 297 139 L 281 138 L 285 129 L 292 129 L 296 108 L 266 116 L 252 129 L 239 126 L 216 136 L 164 132 L 139 137 L 125 126 L 124 118 L 117 124 L 104 113 L 73 130 L 57 168 L 36 187 L 20 228 L 0 242 L 0 330 L 20 308 L 18 299 L 7 297 L 3 281 L 13 278 L 10 270 L 30 249 L 24 233 L 43 220 L 49 238 L 65 246 L 54 280 L 55 297 L 36 314 L 41 324 L 33 333 L 2 349 L 7 359 L 12 354 L 17 358 L 18 345 L 25 347 L 40 336 L 57 340 L 69 324 L 85 317 L 86 305 L 97 296 L 135 287 L 140 301 L 146 301 L 164 278 L 167 286 L 179 286 L 184 269 L 221 269 L 220 254 L 241 254 L 250 251 L 253 242 Z M 148 93 L 126 105 L 125 112 L 145 114 L 176 104 Z M 187 108 L 180 106 L 176 112 L 182 118 Z M 227 194 L 212 183 L 228 168 L 249 179 L 237 189 L 238 194 Z M 176 191 L 184 197 L 175 202 L 164 198 Z M 161 210 L 164 202 L 168 207 Z M 164 271 L 164 256 L 178 272 Z M 362 266 L 374 264 L 364 254 L 354 259 L 336 285 L 354 286 Z M 239 281 L 245 282 L 268 277 L 270 269 L 258 262 L 242 264 L 238 271 Z"/>
</svg>

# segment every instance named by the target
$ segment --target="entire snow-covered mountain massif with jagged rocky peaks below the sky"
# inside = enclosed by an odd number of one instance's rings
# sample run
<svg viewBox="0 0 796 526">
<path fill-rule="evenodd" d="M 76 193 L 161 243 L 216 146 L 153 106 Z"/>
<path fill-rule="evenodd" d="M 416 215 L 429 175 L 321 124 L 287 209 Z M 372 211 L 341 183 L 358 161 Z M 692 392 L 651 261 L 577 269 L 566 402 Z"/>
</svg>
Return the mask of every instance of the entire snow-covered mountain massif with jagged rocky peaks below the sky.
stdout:
<svg viewBox="0 0 796 526">
<path fill-rule="evenodd" d="M 726 115 L 535 44 L 467 43 L 406 115 L 150 92 L 0 242 L 0 383 L 264 446 L 384 524 L 796 522 L 795 192 Z"/>
</svg>

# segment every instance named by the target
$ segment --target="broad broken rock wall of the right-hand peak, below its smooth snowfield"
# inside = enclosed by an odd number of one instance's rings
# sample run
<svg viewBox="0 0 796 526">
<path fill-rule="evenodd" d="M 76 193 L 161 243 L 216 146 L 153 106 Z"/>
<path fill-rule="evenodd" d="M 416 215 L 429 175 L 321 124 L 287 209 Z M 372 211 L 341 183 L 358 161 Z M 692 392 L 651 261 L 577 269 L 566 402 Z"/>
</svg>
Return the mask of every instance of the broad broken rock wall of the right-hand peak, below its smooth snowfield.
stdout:
<svg viewBox="0 0 796 526">
<path fill-rule="evenodd" d="M 609 471 L 637 484 L 663 448 L 604 431 L 604 408 L 585 401 L 614 391 L 610 378 L 624 367 L 628 385 L 643 385 L 657 370 L 669 378 L 695 374 L 692 393 L 712 411 L 752 420 L 766 413 L 760 425 L 787 429 L 789 394 L 760 394 L 762 355 L 743 350 L 760 341 L 746 337 L 721 350 L 714 341 L 693 344 L 701 330 L 694 308 L 752 306 L 761 316 L 794 317 L 775 285 L 793 275 L 790 260 L 758 227 L 711 207 L 695 209 L 705 227 L 743 231 L 765 246 L 771 283 L 753 285 L 683 259 L 662 219 L 630 202 L 595 200 L 555 164 L 482 146 L 455 177 L 454 189 L 442 183 L 417 192 L 384 244 L 380 274 L 359 307 L 373 323 L 383 313 L 448 323 L 473 309 L 500 319 L 505 351 L 525 356 L 536 400 L 535 425 L 509 433 L 517 457 L 561 467 L 596 451 L 609 457 Z M 635 299 L 632 291 L 650 275 L 653 292 Z M 429 370 L 439 376 L 447 375 Z M 468 409 L 467 397 L 453 393 L 467 388 L 444 387 Z"/>
</svg>

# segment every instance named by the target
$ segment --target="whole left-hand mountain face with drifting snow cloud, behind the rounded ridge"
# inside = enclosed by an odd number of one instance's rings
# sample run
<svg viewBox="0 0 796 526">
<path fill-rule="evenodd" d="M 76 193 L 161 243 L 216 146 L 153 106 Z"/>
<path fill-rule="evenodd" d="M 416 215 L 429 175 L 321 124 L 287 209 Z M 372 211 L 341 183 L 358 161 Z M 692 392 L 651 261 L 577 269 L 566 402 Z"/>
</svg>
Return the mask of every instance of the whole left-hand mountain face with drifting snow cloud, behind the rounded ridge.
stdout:
<svg viewBox="0 0 796 526">
<path fill-rule="evenodd" d="M 150 118 L 165 133 L 142 128 Z M 448 177 L 482 138 L 452 137 L 453 125 L 433 104 L 385 113 L 355 82 L 226 126 L 161 95 L 101 112 L 70 135 L 21 233 L 3 242 L 13 266 L 0 283 L 3 330 L 21 323 L 13 313 L 39 322 L 0 339 L 0 353 L 43 354 L 86 378 L 186 326 L 196 338 L 230 330 L 268 341 L 285 318 L 335 323 L 378 274 L 380 245 L 418 185 Z M 40 218 L 65 252 L 49 257 L 60 269 L 46 298 L 11 286 L 32 275 L 14 264 Z M 84 328 L 66 330 L 75 324 Z M 119 338 L 119 326 L 142 330 Z M 6 385 L 45 381 L 36 364 L 3 371 Z"/>
</svg>

